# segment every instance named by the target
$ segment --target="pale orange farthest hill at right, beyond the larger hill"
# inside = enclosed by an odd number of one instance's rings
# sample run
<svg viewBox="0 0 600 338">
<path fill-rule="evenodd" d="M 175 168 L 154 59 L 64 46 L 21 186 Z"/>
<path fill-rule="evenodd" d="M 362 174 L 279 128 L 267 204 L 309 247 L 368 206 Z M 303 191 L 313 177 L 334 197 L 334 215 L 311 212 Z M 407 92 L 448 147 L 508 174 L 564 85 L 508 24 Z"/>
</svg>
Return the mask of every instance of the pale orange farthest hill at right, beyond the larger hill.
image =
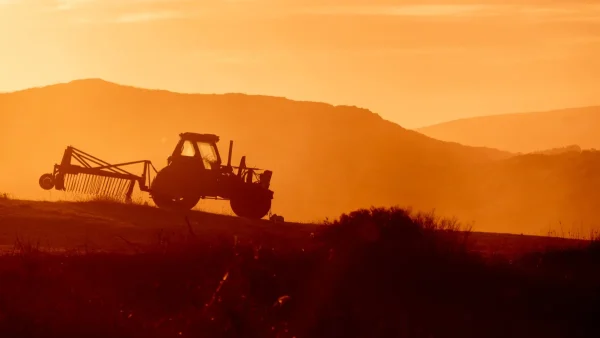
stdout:
<svg viewBox="0 0 600 338">
<path fill-rule="evenodd" d="M 529 153 L 577 144 L 600 149 L 600 106 L 454 120 L 416 131 L 433 138 Z"/>
</svg>

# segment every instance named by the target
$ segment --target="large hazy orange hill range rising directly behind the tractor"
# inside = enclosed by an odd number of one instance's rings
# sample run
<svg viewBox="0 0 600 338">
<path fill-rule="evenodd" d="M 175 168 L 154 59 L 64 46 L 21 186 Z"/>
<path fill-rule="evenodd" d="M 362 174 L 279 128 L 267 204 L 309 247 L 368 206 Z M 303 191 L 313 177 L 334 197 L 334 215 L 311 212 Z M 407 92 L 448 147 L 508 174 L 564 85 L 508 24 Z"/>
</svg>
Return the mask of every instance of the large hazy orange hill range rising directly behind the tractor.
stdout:
<svg viewBox="0 0 600 338">
<path fill-rule="evenodd" d="M 0 190 L 20 198 L 62 196 L 43 191 L 38 178 L 60 161 L 67 145 L 112 163 L 149 159 L 161 169 L 178 134 L 193 131 L 220 135 L 223 157 L 233 139 L 234 164 L 247 155 L 248 165 L 273 170 L 273 212 L 289 220 L 399 205 L 435 208 L 475 221 L 481 231 L 540 234 L 543 227 L 589 222 L 595 215 L 586 202 L 593 198 L 565 198 L 580 186 L 573 184 L 578 170 L 596 161 L 595 154 L 578 153 L 575 162 L 513 158 L 439 141 L 357 107 L 179 94 L 86 79 L 0 94 L 0 111 Z M 583 192 L 588 198 L 596 191 Z M 201 207 L 230 210 L 218 201 Z"/>
</svg>

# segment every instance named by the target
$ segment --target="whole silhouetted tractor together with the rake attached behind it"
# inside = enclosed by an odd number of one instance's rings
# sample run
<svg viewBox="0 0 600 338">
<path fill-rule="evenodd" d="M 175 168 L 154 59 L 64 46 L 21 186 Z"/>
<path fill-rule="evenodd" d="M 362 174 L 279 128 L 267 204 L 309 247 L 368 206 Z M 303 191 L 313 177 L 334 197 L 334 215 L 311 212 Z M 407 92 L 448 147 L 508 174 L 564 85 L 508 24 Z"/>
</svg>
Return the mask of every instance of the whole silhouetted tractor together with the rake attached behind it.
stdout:
<svg viewBox="0 0 600 338">
<path fill-rule="evenodd" d="M 43 174 L 39 184 L 45 190 L 124 196 L 131 201 L 137 182 L 159 208 L 189 210 L 200 199 L 217 199 L 229 200 L 231 209 L 240 217 L 261 219 L 270 212 L 272 171 L 247 167 L 246 156 L 242 156 L 239 166 L 232 166 L 233 141 L 229 142 L 227 165 L 223 165 L 217 147 L 219 136 L 190 132 L 179 136 L 167 166 L 160 171 L 148 160 L 110 164 L 69 146 L 61 163 L 54 165 L 52 173 Z M 79 164 L 71 163 L 72 160 Z M 138 163 L 144 164 L 142 175 L 121 168 Z M 153 180 L 150 169 L 156 173 Z"/>
</svg>

